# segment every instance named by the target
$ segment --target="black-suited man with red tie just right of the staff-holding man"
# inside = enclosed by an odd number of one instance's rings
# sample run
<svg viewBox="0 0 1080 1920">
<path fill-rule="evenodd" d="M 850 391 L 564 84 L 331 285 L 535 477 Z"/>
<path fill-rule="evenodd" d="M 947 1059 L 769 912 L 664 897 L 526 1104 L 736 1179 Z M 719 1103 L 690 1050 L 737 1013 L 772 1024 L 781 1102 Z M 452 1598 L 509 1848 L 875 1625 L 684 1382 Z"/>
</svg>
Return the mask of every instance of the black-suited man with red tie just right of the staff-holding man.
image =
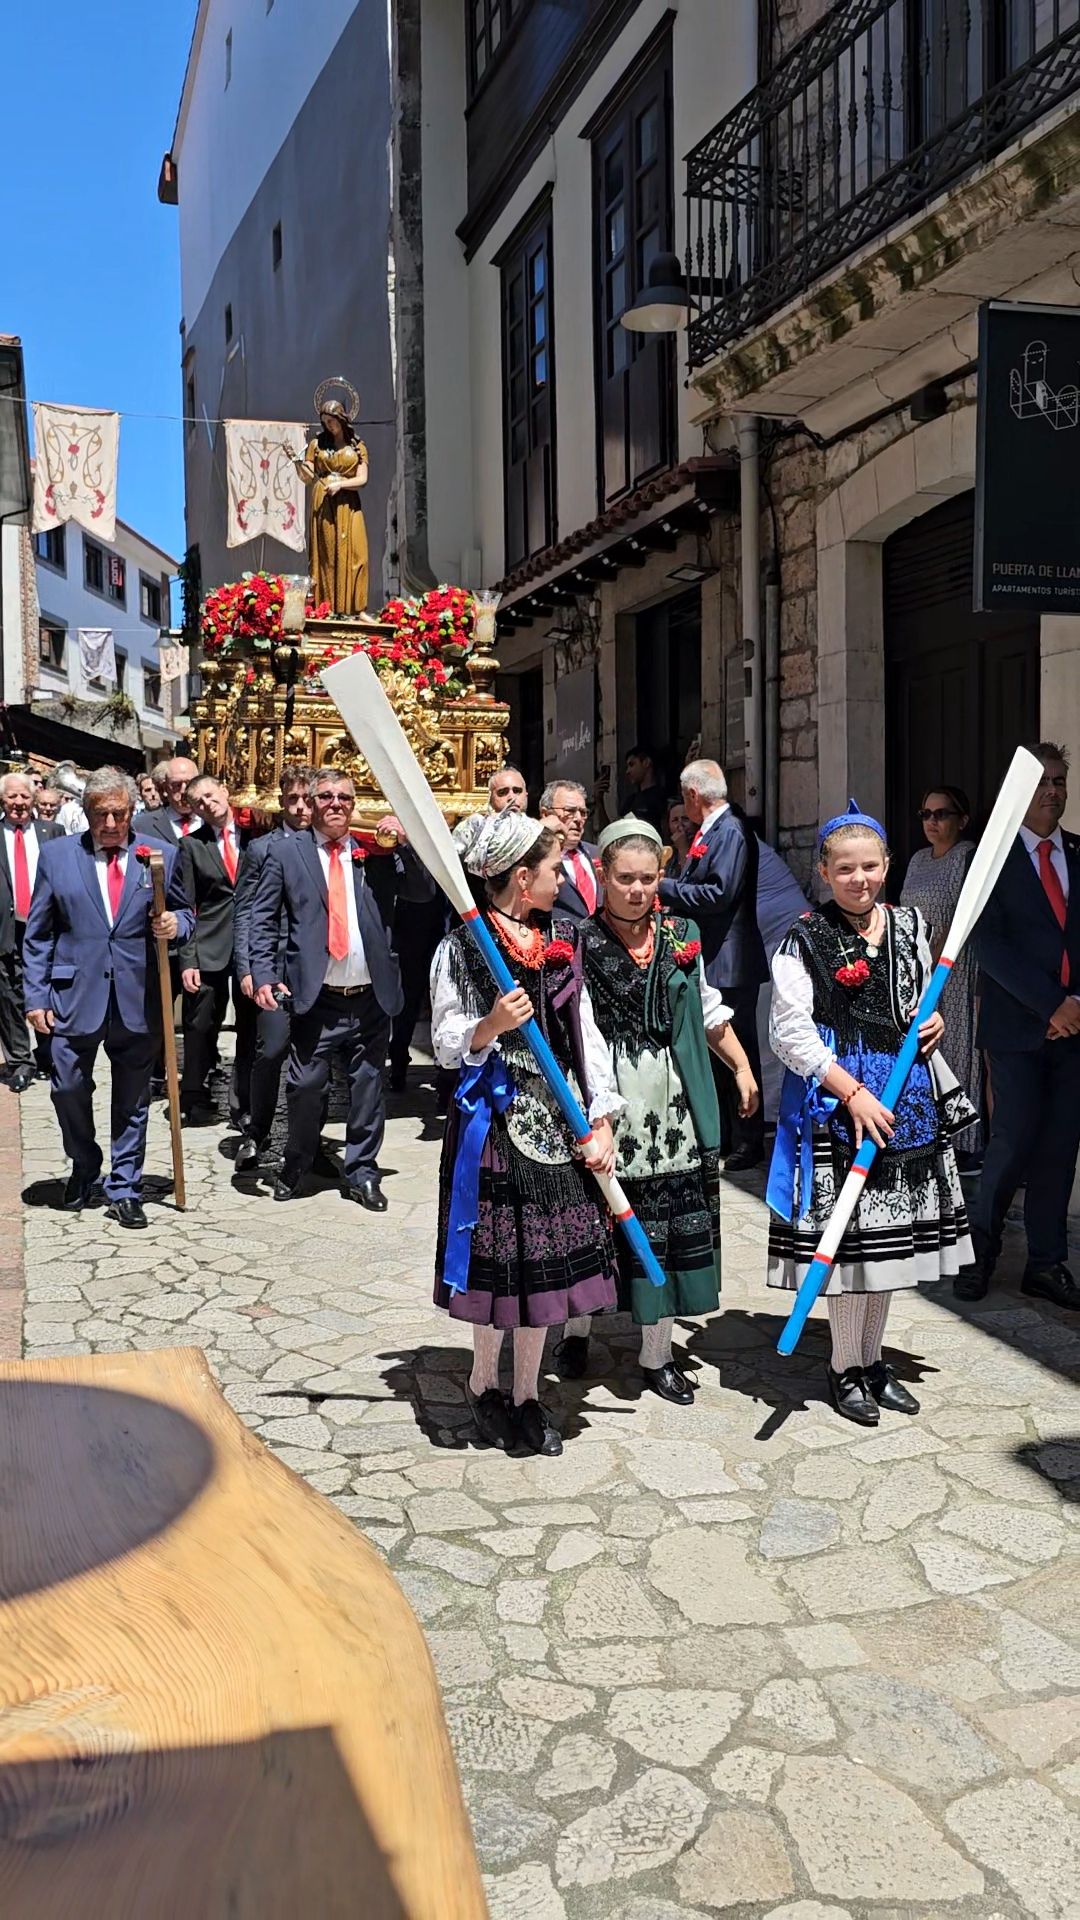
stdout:
<svg viewBox="0 0 1080 1920">
<path fill-rule="evenodd" d="M 213 774 L 196 774 L 188 781 L 186 801 L 202 826 L 181 841 L 184 891 L 196 914 L 192 933 L 179 950 L 184 989 L 181 1112 L 192 1125 L 213 1119 L 208 1081 L 217 1062 L 217 1037 L 233 987 L 236 1058 L 229 1114 L 236 1127 L 244 1127 L 256 1054 L 256 1008 L 240 993 L 233 972 L 233 908 L 240 852 L 250 829 L 236 826 L 229 787 Z"/>
</svg>

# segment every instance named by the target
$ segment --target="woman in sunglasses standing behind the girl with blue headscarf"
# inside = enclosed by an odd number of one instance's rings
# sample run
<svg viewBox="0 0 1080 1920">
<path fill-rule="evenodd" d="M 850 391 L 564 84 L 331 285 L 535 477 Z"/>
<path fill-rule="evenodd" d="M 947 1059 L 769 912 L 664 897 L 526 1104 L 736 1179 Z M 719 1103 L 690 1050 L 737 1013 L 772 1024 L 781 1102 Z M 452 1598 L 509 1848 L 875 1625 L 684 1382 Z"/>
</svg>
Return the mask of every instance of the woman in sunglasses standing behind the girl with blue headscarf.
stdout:
<svg viewBox="0 0 1080 1920">
<path fill-rule="evenodd" d="M 963 787 L 930 787 L 919 808 L 926 847 L 911 854 L 903 879 L 901 906 L 917 906 L 930 927 L 934 962 L 942 954 L 965 881 L 974 841 L 965 837 L 970 801 Z M 969 941 L 942 995 L 945 1037 L 942 1052 L 976 1114 L 982 1112 L 982 1056 L 974 1044 L 974 948 Z M 957 1165 L 970 1171 L 982 1162 L 982 1123 L 955 1137 Z"/>
</svg>

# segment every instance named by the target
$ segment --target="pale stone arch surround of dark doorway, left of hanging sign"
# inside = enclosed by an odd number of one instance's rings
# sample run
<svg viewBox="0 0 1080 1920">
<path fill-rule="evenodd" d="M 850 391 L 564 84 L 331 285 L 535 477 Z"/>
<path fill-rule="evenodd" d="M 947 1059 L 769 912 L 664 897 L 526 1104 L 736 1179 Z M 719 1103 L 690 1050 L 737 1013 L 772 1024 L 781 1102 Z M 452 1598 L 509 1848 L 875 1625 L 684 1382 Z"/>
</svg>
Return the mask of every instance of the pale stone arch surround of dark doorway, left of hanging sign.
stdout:
<svg viewBox="0 0 1080 1920">
<path fill-rule="evenodd" d="M 884 812 L 882 541 L 974 486 L 974 405 L 928 420 L 828 493 L 817 515 L 819 818 L 853 793 Z"/>
</svg>

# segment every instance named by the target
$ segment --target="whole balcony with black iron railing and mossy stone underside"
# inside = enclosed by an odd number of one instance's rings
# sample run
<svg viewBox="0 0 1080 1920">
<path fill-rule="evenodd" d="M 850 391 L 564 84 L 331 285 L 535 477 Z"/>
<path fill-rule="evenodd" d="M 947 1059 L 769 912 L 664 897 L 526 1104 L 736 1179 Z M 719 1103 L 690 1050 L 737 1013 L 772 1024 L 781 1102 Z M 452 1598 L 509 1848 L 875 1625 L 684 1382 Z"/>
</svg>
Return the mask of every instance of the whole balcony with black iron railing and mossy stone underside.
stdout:
<svg viewBox="0 0 1080 1920">
<path fill-rule="evenodd" d="M 847 348 L 857 346 L 859 323 L 880 313 L 890 271 L 899 292 L 959 286 L 953 321 L 965 301 L 1011 292 L 1011 284 L 963 284 L 963 275 L 949 282 L 947 269 L 999 234 L 1001 209 L 1017 225 L 1028 204 L 1038 213 L 1080 180 L 1080 169 L 1070 171 L 1080 138 L 1065 148 L 1059 140 L 1045 165 L 1030 157 L 1045 127 L 1074 117 L 1078 92 L 1080 0 L 838 0 L 688 156 L 692 378 L 715 371 L 736 342 L 738 357 L 748 336 L 792 303 L 805 300 L 809 309 L 811 296 L 813 344 L 846 336 Z M 1026 157 L 1017 167 L 1019 154 Z M 994 165 L 999 180 L 982 205 L 972 202 L 955 221 L 928 217 Z M 907 246 L 905 234 L 917 244 Z M 1032 265 L 1051 265 L 1076 246 L 1067 225 L 1057 252 L 1028 250 L 1028 278 Z M 849 271 L 855 255 L 861 275 Z M 844 263 L 847 276 L 830 290 Z M 888 303 L 888 288 L 884 296 Z M 803 332 L 774 334 L 765 359 L 751 353 L 751 365 L 721 380 L 713 397 L 730 403 L 740 388 L 780 371 L 796 392 Z M 874 357 L 867 338 L 861 371 L 872 372 L 894 348 L 882 340 Z M 707 394 L 711 382 L 694 384 Z M 799 392 L 799 401 L 819 396 L 821 386 Z"/>
</svg>

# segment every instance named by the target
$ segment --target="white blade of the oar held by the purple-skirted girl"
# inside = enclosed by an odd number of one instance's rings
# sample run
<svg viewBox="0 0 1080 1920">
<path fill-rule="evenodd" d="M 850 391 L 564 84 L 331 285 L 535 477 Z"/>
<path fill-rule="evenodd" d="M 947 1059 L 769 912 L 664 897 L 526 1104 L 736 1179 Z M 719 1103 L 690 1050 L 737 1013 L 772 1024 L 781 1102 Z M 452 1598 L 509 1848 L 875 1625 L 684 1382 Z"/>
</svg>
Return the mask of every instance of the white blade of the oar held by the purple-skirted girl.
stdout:
<svg viewBox="0 0 1080 1920">
<path fill-rule="evenodd" d="M 371 660 L 354 653 L 327 666 L 321 680 L 386 801 L 407 824 L 413 852 L 457 912 L 471 912 L 477 902 L 450 828 Z"/>
</svg>

